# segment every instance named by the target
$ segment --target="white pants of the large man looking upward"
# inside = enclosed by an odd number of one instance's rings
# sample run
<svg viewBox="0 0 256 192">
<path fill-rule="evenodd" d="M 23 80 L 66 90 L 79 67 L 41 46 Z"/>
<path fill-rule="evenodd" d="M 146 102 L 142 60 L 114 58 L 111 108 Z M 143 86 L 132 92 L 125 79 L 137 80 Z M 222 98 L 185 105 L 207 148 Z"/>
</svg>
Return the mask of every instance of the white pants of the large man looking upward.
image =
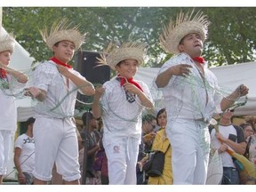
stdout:
<svg viewBox="0 0 256 192">
<path fill-rule="evenodd" d="M 207 124 L 178 120 L 169 124 L 166 133 L 172 145 L 173 184 L 204 185 L 210 153 Z"/>
</svg>

